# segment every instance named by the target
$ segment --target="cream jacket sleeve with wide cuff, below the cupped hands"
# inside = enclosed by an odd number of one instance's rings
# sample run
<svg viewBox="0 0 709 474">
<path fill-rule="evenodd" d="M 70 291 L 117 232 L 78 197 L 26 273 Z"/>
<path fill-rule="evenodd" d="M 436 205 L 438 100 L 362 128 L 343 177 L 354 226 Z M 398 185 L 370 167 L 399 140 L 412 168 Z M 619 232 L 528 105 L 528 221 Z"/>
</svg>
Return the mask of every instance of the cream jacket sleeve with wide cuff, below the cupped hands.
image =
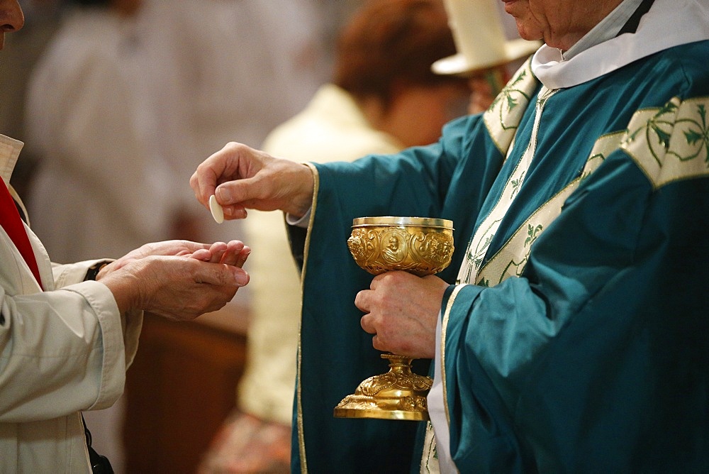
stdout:
<svg viewBox="0 0 709 474">
<path fill-rule="evenodd" d="M 143 316 L 106 285 L 11 296 L 0 287 L 0 422 L 109 407 L 123 392 Z"/>
</svg>

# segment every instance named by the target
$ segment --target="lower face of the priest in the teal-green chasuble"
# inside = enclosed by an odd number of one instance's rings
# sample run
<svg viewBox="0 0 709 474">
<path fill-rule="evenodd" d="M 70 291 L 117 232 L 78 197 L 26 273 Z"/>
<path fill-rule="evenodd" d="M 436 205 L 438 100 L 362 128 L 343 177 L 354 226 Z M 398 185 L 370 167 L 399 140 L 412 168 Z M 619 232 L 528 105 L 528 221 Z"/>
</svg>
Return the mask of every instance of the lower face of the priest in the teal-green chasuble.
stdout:
<svg viewBox="0 0 709 474">
<path fill-rule="evenodd" d="M 568 50 L 623 0 L 502 0 L 520 36 Z"/>
</svg>

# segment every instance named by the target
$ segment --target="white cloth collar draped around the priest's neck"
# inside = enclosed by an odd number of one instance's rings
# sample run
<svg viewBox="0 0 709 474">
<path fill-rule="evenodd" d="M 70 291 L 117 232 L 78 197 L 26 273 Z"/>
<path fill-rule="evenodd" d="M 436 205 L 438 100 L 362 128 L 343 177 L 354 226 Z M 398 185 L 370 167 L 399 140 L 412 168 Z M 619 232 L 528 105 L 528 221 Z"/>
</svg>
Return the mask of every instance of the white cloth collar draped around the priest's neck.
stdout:
<svg viewBox="0 0 709 474">
<path fill-rule="evenodd" d="M 708 18 L 706 0 L 655 0 L 635 33 L 605 40 L 569 60 L 542 45 L 532 57 L 532 72 L 549 89 L 583 84 L 661 50 L 708 40 Z"/>
</svg>

